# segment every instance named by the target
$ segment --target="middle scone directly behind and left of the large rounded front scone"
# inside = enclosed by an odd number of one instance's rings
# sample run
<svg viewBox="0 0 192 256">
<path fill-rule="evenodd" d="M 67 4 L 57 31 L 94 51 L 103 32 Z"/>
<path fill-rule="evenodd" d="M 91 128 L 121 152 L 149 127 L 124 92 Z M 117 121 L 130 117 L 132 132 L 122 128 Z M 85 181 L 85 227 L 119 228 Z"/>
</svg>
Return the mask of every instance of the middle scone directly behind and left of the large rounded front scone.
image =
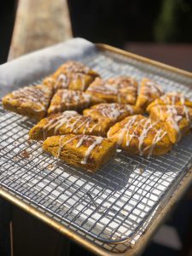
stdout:
<svg viewBox="0 0 192 256">
<path fill-rule="evenodd" d="M 125 119 L 125 117 L 142 112 L 141 108 L 128 104 L 101 103 L 84 109 L 83 114 L 84 116 L 90 116 L 101 124 L 105 124 L 109 129 L 111 125 Z"/>
</svg>

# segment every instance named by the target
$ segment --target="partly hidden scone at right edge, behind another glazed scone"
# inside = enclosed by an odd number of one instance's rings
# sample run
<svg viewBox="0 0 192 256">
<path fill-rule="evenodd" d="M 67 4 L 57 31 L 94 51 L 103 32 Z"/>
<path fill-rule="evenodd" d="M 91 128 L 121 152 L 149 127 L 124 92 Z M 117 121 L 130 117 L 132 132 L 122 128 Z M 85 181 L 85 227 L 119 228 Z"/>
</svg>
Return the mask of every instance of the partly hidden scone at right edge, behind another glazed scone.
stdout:
<svg viewBox="0 0 192 256">
<path fill-rule="evenodd" d="M 150 108 L 153 108 L 157 105 L 185 105 L 189 108 L 192 108 L 192 102 L 183 95 L 181 92 L 168 92 L 164 96 L 154 100 L 148 105 L 147 111 L 150 111 Z"/>
</svg>

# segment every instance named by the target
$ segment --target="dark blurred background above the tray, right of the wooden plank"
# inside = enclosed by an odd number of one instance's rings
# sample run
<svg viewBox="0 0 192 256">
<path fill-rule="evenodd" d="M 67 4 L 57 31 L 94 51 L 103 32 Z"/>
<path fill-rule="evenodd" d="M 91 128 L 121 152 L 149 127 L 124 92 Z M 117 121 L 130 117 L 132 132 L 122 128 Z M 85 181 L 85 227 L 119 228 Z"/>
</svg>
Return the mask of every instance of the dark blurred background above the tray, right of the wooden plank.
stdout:
<svg viewBox="0 0 192 256">
<path fill-rule="evenodd" d="M 73 34 L 125 42 L 192 43 L 191 0 L 69 0 Z"/>
</svg>

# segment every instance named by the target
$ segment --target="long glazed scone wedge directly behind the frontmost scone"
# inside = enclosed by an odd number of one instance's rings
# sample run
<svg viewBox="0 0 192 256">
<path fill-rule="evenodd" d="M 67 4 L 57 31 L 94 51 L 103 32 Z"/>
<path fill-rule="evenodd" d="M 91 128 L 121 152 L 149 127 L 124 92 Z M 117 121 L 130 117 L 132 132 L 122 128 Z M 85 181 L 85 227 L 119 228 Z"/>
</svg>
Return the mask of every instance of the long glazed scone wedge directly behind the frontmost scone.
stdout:
<svg viewBox="0 0 192 256">
<path fill-rule="evenodd" d="M 76 111 L 52 113 L 33 126 L 29 131 L 32 140 L 44 140 L 46 137 L 64 134 L 87 134 L 105 137 L 106 126 L 91 119 L 90 116 L 82 116 Z"/>
</svg>

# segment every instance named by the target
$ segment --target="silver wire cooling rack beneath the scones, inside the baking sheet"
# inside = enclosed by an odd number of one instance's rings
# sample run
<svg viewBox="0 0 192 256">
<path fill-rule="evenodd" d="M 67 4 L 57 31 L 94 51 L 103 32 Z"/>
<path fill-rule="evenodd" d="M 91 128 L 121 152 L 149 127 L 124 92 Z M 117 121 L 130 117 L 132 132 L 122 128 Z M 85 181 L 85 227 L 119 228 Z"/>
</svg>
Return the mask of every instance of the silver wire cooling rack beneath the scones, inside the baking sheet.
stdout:
<svg viewBox="0 0 192 256">
<path fill-rule="evenodd" d="M 192 79 L 160 67 L 100 50 L 78 61 L 104 79 L 120 74 L 138 81 L 148 77 L 164 90 L 192 97 Z M 1 186 L 114 253 L 137 241 L 138 232 L 147 229 L 148 219 L 192 165 L 189 133 L 169 154 L 146 159 L 119 151 L 100 171 L 85 172 L 45 154 L 40 143 L 29 142 L 34 124 L 0 107 Z"/>
</svg>

